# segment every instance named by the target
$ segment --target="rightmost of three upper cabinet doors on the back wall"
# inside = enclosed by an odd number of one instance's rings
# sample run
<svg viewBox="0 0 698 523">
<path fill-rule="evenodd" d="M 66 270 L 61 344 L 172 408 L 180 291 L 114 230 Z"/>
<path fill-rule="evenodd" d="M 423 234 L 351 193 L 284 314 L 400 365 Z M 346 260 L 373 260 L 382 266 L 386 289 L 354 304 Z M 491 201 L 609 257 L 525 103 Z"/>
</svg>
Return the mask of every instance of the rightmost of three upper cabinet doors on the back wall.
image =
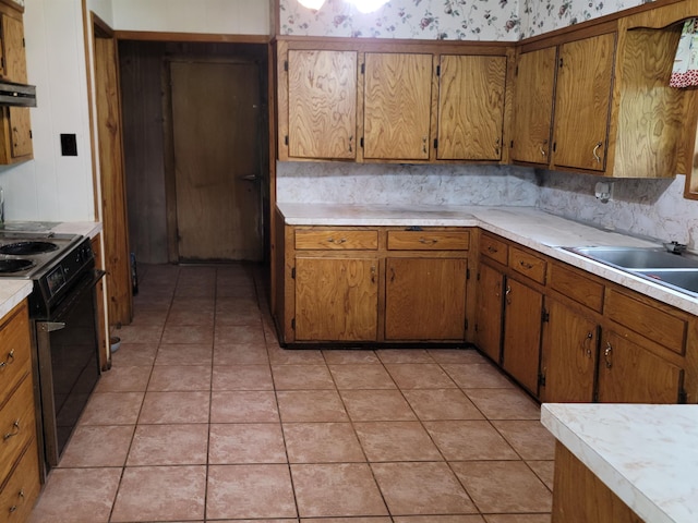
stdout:
<svg viewBox="0 0 698 523">
<path fill-rule="evenodd" d="M 440 160 L 502 158 L 505 84 L 506 57 L 441 58 Z"/>
</svg>

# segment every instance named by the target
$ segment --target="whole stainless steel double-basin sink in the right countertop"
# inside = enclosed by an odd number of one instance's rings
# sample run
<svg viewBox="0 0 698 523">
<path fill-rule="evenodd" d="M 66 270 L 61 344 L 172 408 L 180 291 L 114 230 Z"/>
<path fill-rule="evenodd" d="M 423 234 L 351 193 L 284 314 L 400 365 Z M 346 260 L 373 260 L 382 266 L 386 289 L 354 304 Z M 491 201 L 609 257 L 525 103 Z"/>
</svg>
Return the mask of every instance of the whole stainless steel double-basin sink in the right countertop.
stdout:
<svg viewBox="0 0 698 523">
<path fill-rule="evenodd" d="M 698 256 L 643 247 L 565 247 L 595 262 L 698 296 Z"/>
</svg>

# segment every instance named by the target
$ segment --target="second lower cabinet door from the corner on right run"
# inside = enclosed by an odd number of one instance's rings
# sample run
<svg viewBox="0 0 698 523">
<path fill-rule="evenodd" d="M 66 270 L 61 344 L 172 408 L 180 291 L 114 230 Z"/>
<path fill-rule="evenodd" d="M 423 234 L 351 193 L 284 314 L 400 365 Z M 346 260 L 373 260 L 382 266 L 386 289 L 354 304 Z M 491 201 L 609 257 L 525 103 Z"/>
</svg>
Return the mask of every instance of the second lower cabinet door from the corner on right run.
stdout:
<svg viewBox="0 0 698 523">
<path fill-rule="evenodd" d="M 543 295 L 513 279 L 507 279 L 505 294 L 502 364 L 537 396 Z"/>
</svg>

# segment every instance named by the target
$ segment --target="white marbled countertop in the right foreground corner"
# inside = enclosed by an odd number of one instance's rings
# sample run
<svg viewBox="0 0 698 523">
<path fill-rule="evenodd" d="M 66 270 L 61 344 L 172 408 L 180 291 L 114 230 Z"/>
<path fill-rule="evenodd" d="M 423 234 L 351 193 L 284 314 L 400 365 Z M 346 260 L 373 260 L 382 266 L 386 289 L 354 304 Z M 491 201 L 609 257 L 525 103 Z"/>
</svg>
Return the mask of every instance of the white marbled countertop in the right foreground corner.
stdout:
<svg viewBox="0 0 698 523">
<path fill-rule="evenodd" d="M 544 403 L 541 422 L 643 521 L 698 521 L 698 405 Z"/>
</svg>

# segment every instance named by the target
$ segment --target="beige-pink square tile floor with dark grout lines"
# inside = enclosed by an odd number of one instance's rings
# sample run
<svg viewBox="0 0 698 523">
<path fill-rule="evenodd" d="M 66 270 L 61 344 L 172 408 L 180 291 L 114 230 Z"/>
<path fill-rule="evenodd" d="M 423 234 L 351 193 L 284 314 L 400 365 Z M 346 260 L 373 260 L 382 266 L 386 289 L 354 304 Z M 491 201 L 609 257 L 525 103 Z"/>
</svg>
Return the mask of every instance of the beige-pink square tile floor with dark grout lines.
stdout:
<svg viewBox="0 0 698 523">
<path fill-rule="evenodd" d="M 284 350 L 261 270 L 141 266 L 32 523 L 547 523 L 554 440 L 473 350 Z"/>
</svg>

